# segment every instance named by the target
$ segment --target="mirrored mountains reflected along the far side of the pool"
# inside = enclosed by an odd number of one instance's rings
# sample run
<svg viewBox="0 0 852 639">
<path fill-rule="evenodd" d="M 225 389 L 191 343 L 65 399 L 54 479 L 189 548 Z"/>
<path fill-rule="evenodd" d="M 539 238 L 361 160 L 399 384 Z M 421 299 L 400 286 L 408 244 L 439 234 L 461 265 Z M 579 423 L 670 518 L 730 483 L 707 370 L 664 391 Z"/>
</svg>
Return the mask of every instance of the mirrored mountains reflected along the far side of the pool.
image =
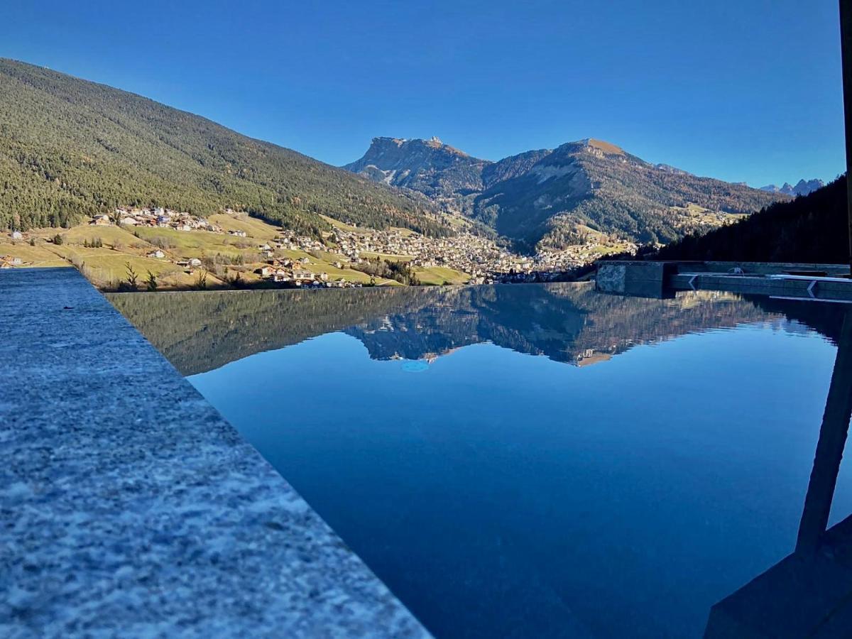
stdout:
<svg viewBox="0 0 852 639">
<path fill-rule="evenodd" d="M 109 300 L 183 375 L 333 331 L 374 360 L 429 360 L 490 342 L 584 366 L 641 343 L 751 322 L 838 325 L 796 302 L 696 291 L 673 299 L 607 296 L 588 284 L 391 287 L 328 291 L 111 294 Z M 839 309 L 830 309 L 837 314 Z M 796 321 L 798 320 L 798 321 Z"/>
</svg>

